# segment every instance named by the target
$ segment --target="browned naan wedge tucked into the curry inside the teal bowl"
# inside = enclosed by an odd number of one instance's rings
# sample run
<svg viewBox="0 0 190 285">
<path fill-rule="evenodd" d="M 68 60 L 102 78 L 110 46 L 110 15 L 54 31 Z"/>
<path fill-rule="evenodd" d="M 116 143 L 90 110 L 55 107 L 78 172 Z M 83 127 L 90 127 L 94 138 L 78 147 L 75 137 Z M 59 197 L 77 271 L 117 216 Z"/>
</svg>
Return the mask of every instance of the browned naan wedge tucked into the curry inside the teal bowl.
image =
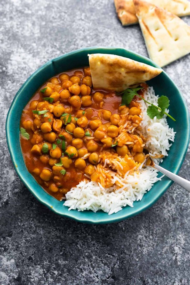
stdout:
<svg viewBox="0 0 190 285">
<path fill-rule="evenodd" d="M 88 54 L 94 89 L 123 91 L 154 78 L 161 69 L 114 54 Z"/>
</svg>

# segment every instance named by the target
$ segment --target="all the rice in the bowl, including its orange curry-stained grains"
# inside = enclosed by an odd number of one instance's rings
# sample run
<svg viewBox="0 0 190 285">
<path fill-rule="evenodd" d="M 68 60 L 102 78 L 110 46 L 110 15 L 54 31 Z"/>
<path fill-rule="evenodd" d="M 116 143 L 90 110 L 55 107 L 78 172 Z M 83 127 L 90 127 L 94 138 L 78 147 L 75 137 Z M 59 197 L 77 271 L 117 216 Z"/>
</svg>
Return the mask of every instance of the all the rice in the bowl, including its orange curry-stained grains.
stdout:
<svg viewBox="0 0 190 285">
<path fill-rule="evenodd" d="M 157 105 L 158 96 L 155 95 L 153 87 L 148 87 L 144 92 L 144 99 Z M 175 132 L 169 128 L 166 115 L 162 119 L 150 119 L 146 110 L 148 104 L 137 101 L 141 107 L 141 129 L 140 133 L 146 138 L 145 148 L 149 151 L 156 163 L 162 162 L 167 156 L 167 151 L 174 142 Z M 128 144 L 127 133 L 135 136 L 133 126 L 123 122 L 119 127 L 118 145 L 125 140 Z M 136 136 L 138 138 L 138 136 Z M 145 156 L 146 158 L 146 156 Z M 122 207 L 128 205 L 133 207 L 133 202 L 141 200 L 143 195 L 149 191 L 158 178 L 158 171 L 154 168 L 142 168 L 142 162 L 137 163 L 127 154 L 121 158 L 114 152 L 103 151 L 99 155 L 99 164 L 95 168 L 95 181 L 83 180 L 66 194 L 65 206 L 78 211 L 92 210 L 94 212 L 103 210 L 107 213 L 117 213 Z M 90 177 L 87 176 L 90 179 Z"/>
</svg>

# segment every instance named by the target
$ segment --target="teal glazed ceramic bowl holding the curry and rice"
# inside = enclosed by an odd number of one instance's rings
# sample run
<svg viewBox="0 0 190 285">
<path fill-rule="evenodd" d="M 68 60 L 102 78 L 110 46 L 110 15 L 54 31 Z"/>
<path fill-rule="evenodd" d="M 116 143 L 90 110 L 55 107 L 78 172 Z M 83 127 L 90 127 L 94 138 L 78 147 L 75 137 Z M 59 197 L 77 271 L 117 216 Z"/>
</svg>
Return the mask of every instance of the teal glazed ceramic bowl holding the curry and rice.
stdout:
<svg viewBox="0 0 190 285">
<path fill-rule="evenodd" d="M 103 211 L 98 211 L 97 213 L 93 213 L 92 211 L 68 211 L 68 207 L 63 206 L 63 202 L 60 202 L 47 194 L 28 172 L 24 164 L 19 140 L 19 122 L 21 119 L 21 113 L 34 92 L 45 81 L 58 73 L 74 68 L 89 66 L 87 56 L 88 53 L 116 54 L 158 67 L 149 58 L 143 57 L 140 54 L 136 54 L 123 48 L 83 48 L 48 61 L 38 70 L 36 70 L 28 78 L 28 80 L 26 80 L 15 95 L 6 121 L 7 144 L 18 176 L 25 186 L 30 190 L 30 192 L 41 203 L 49 207 L 55 213 L 79 222 L 92 224 L 114 223 L 138 215 L 142 211 L 151 207 L 166 192 L 167 188 L 172 184 L 172 181 L 167 177 L 162 178 L 162 181 L 156 182 L 152 189 L 144 195 L 141 201 L 134 202 L 134 207 L 123 207 L 122 211 L 112 215 L 108 215 Z M 175 135 L 175 142 L 169 150 L 169 155 L 164 158 L 162 166 L 177 174 L 185 158 L 189 144 L 190 131 L 189 112 L 187 105 L 183 99 L 183 96 L 179 92 L 179 89 L 169 78 L 166 72 L 163 71 L 159 76 L 150 80 L 148 84 L 149 86 L 154 87 L 156 94 L 166 95 L 170 99 L 169 111 L 170 114 L 176 119 L 176 122 L 173 122 L 169 118 L 167 121 L 169 126 L 173 127 L 174 131 L 177 133 Z"/>
</svg>

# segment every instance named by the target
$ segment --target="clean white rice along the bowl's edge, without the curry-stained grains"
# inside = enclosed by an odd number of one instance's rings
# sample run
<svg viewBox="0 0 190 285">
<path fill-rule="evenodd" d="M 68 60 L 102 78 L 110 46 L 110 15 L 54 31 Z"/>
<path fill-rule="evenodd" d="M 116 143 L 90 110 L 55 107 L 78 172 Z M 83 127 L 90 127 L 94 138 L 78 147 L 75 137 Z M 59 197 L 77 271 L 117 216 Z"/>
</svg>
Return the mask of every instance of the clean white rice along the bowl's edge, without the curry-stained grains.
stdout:
<svg viewBox="0 0 190 285">
<path fill-rule="evenodd" d="M 155 95 L 153 87 L 149 87 L 144 94 L 144 98 L 157 105 L 158 96 Z M 149 104 L 140 100 L 142 111 L 142 134 L 148 138 L 146 148 L 150 151 L 150 155 L 167 156 L 172 142 L 174 141 L 175 132 L 173 128 L 169 128 L 166 120 L 166 115 L 162 119 L 150 119 L 146 110 Z M 155 162 L 162 162 L 162 159 L 155 158 Z M 143 165 L 143 164 L 142 164 Z M 153 184 L 158 180 L 158 171 L 154 168 L 142 169 L 142 165 L 133 175 L 125 174 L 124 178 L 115 176 L 113 183 L 119 180 L 122 188 L 118 186 L 104 189 L 99 183 L 88 180 L 81 181 L 76 187 L 66 194 L 64 206 L 68 206 L 69 210 L 78 209 L 78 211 L 92 210 L 96 212 L 103 210 L 109 215 L 122 210 L 122 207 L 128 205 L 133 207 L 133 202 L 141 200 L 143 195 L 149 191 Z"/>
</svg>

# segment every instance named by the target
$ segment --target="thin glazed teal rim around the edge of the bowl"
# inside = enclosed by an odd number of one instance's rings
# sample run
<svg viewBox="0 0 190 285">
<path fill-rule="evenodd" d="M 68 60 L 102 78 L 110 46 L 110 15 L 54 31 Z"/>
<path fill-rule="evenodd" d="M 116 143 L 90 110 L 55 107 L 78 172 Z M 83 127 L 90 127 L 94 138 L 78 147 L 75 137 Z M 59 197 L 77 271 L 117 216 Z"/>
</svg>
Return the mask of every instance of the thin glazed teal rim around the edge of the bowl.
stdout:
<svg viewBox="0 0 190 285">
<path fill-rule="evenodd" d="M 26 180 L 24 179 L 24 176 L 19 172 L 18 168 L 17 168 L 17 158 L 14 154 L 14 151 L 13 151 L 13 148 L 12 148 L 12 145 L 11 145 L 11 138 L 10 138 L 10 134 L 9 134 L 9 131 L 8 131 L 8 128 L 9 128 L 9 125 L 10 125 L 10 119 L 11 119 L 11 111 L 13 109 L 13 106 L 17 100 L 17 98 L 19 97 L 22 89 L 25 87 L 25 85 L 32 79 L 33 76 L 35 76 L 36 74 L 40 73 L 41 70 L 43 70 L 44 67 L 46 67 L 47 65 L 49 65 L 50 63 L 53 63 L 55 60 L 59 60 L 60 58 L 64 58 L 64 57 L 67 57 L 67 56 L 70 56 L 70 55 L 73 55 L 73 54 L 76 54 L 78 52 L 81 52 L 81 51 L 88 51 L 90 52 L 90 50 L 93 50 L 93 49 L 100 49 L 100 50 L 104 50 L 104 51 L 108 51 L 108 50 L 124 50 L 125 52 L 128 52 L 130 54 L 133 54 L 135 56 L 138 56 L 138 59 L 142 59 L 142 60 L 148 60 L 150 63 L 152 63 L 152 66 L 154 67 L 157 67 L 157 68 L 160 68 L 160 66 L 158 66 L 155 62 L 153 62 L 152 60 L 150 60 L 149 58 L 147 58 L 146 56 L 142 56 L 136 52 L 133 52 L 131 50 L 127 50 L 125 48 L 120 48 L 120 47 L 99 47 L 99 46 L 93 46 L 93 47 L 86 47 L 86 48 L 80 48 L 80 49 L 77 49 L 77 50 L 73 50 L 71 52 L 68 52 L 66 54 L 63 54 L 61 56 L 58 56 L 56 58 L 53 58 L 49 61 L 47 61 L 46 63 L 44 63 L 42 66 L 40 66 L 36 71 L 34 71 L 30 76 L 29 78 L 24 82 L 24 84 L 21 86 L 21 88 L 17 91 L 15 97 L 13 98 L 13 101 L 9 107 L 9 111 L 7 113 L 7 119 L 6 119 L 6 125 L 5 125 L 5 132 L 6 132 L 6 138 L 7 138 L 7 145 L 8 145 L 8 149 L 9 149 L 9 153 L 10 153 L 10 156 L 11 156 L 11 160 L 13 162 L 13 166 L 15 168 L 15 171 L 17 173 L 17 175 L 19 176 L 19 178 L 21 179 L 21 181 L 23 182 L 23 184 L 26 186 L 26 188 L 28 188 L 28 190 L 34 195 L 34 197 L 40 201 L 42 204 L 46 205 L 50 210 L 52 210 L 53 212 L 63 216 L 63 217 L 67 217 L 67 218 L 70 218 L 70 219 L 73 219 L 77 222 L 81 222 L 81 223 L 91 223 L 91 224 L 107 224 L 107 223 L 115 223 L 115 222 L 119 222 L 119 221 L 122 221 L 124 219 L 128 219 L 128 218 L 131 218 L 131 217 L 134 217 L 136 215 L 138 215 L 139 213 L 141 213 L 142 211 L 145 211 L 146 209 L 150 208 L 154 203 L 156 203 L 156 201 L 158 201 L 158 199 L 160 199 L 160 197 L 166 192 L 166 190 L 171 186 L 171 184 L 173 183 L 173 181 L 168 181 L 166 186 L 165 186 L 165 189 L 164 191 L 162 191 L 154 200 L 151 200 L 150 202 L 148 202 L 146 204 L 146 206 L 142 206 L 142 207 L 138 207 L 138 209 L 136 211 L 134 211 L 134 213 L 130 213 L 126 216 L 126 214 L 123 214 L 121 215 L 120 217 L 115 217 L 114 218 L 114 215 L 109 215 L 110 219 L 107 220 L 107 219 L 100 219 L 98 221 L 94 221 L 93 219 L 86 219 L 85 217 L 84 218 L 78 218 L 78 217 L 75 217 L 74 215 L 72 215 L 72 211 L 68 211 L 67 213 L 61 213 L 59 211 L 57 211 L 56 209 L 54 209 L 52 207 L 52 205 L 50 205 L 50 203 L 47 203 L 46 201 L 43 201 L 42 198 L 40 198 L 37 193 L 35 191 L 33 191 L 33 189 L 30 188 L 30 186 L 28 186 Z M 101 52 L 103 53 L 103 52 Z M 162 69 L 162 68 L 160 68 Z M 186 122 L 187 122 L 187 130 L 188 130 L 188 135 L 186 136 L 185 138 L 185 142 L 183 144 L 183 155 L 182 157 L 180 158 L 180 160 L 178 161 L 177 165 L 176 165 L 176 168 L 175 168 L 175 171 L 173 171 L 173 173 L 177 174 L 179 172 L 179 169 L 183 163 L 183 160 L 185 158 L 185 155 L 186 155 L 186 152 L 187 152 L 187 148 L 188 148 L 188 145 L 189 145 L 189 139 L 190 139 L 190 117 L 189 117 L 189 110 L 188 110 L 188 107 L 187 107 L 187 104 L 186 104 L 186 101 L 185 101 L 185 98 L 183 97 L 183 95 L 181 94 L 179 88 L 177 87 L 177 85 L 173 82 L 173 80 L 167 75 L 167 73 L 162 69 L 162 73 L 164 73 L 164 75 L 166 76 L 167 80 L 169 80 L 174 86 L 175 88 L 178 90 L 179 92 L 179 95 L 181 97 L 181 100 L 183 101 L 183 105 L 184 105 L 184 108 L 185 108 L 185 119 L 186 119 Z M 23 157 L 22 157 L 23 159 Z M 140 201 L 139 201 L 140 202 Z M 77 211 L 77 210 L 74 210 L 74 211 Z"/>
</svg>

